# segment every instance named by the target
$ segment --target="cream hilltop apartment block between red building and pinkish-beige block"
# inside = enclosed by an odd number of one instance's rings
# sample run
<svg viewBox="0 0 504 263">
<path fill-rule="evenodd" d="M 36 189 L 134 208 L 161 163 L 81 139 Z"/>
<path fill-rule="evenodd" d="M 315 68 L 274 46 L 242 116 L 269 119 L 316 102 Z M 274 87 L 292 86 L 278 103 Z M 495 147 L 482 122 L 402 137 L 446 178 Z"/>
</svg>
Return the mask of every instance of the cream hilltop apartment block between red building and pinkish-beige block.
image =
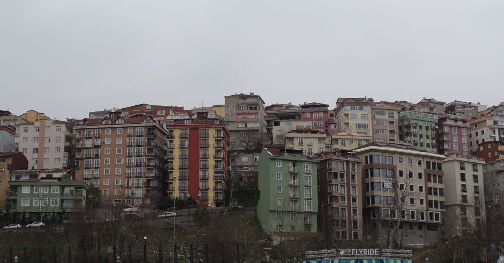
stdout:
<svg viewBox="0 0 504 263">
<path fill-rule="evenodd" d="M 372 136 L 372 98 L 338 98 L 335 117 L 339 132 Z"/>
</svg>

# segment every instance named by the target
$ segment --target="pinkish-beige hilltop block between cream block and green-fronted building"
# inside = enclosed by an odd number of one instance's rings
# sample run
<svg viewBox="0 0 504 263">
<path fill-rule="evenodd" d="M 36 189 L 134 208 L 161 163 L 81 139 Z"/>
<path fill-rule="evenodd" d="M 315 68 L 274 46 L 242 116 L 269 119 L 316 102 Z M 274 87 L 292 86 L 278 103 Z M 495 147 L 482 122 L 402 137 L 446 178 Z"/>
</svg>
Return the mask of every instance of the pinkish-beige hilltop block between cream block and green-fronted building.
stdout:
<svg viewBox="0 0 504 263">
<path fill-rule="evenodd" d="M 398 115 L 402 105 L 393 102 L 377 102 L 371 105 L 373 141 L 399 141 Z"/>
</svg>

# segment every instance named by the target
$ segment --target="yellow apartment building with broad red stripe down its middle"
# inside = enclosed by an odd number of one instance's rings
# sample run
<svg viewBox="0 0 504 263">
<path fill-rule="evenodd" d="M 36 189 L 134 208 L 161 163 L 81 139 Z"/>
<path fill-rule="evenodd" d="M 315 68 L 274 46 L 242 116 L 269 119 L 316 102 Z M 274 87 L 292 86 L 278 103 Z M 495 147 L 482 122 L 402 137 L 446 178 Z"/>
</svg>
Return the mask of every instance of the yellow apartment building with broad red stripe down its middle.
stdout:
<svg viewBox="0 0 504 263">
<path fill-rule="evenodd" d="M 169 134 L 168 195 L 221 206 L 228 178 L 229 144 L 222 117 L 198 112 L 168 116 L 161 123 Z"/>
</svg>

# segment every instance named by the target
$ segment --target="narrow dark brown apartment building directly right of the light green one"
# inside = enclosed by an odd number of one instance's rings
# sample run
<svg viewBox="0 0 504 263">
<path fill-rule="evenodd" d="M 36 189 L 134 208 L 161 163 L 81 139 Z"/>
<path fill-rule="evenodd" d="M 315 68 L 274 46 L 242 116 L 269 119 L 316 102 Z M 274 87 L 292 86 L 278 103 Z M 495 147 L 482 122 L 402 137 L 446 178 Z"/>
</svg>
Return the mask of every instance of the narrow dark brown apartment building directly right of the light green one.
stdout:
<svg viewBox="0 0 504 263">
<path fill-rule="evenodd" d="M 327 151 L 319 161 L 319 232 L 343 240 L 362 240 L 362 161 L 346 151 Z"/>
</svg>

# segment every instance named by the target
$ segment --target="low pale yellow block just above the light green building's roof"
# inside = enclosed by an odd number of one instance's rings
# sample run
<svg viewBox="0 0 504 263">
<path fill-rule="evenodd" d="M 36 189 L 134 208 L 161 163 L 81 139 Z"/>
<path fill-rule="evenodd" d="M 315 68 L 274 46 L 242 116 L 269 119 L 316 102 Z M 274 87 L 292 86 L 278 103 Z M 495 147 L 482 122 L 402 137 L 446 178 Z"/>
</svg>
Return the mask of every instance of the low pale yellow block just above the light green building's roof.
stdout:
<svg viewBox="0 0 504 263">
<path fill-rule="evenodd" d="M 330 145 L 330 142 L 327 142 Z M 302 150 L 304 155 L 324 152 L 326 149 L 326 134 L 310 129 L 297 129 L 285 134 L 285 148 Z"/>
</svg>

